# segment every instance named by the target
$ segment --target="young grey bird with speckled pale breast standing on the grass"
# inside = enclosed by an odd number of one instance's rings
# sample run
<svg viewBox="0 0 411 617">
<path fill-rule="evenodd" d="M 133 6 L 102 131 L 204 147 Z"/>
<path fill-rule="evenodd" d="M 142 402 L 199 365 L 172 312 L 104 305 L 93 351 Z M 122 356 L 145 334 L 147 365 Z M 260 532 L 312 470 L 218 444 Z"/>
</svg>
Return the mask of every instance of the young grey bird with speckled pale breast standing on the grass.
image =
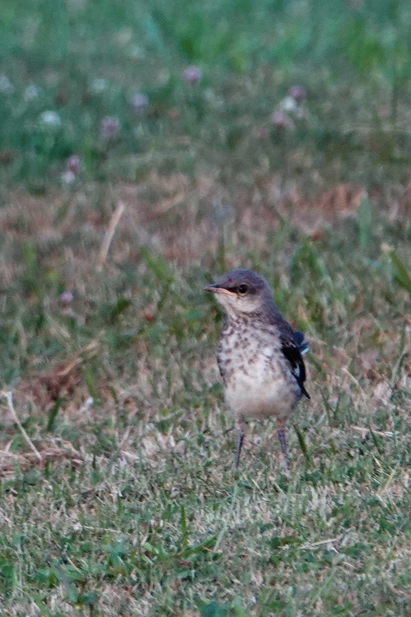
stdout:
<svg viewBox="0 0 411 617">
<path fill-rule="evenodd" d="M 245 418 L 274 416 L 283 463 L 290 466 L 285 421 L 306 391 L 303 354 L 309 348 L 275 305 L 267 281 L 251 270 L 231 270 L 207 285 L 224 309 L 216 353 L 228 407 L 235 418 L 238 468 Z"/>
</svg>

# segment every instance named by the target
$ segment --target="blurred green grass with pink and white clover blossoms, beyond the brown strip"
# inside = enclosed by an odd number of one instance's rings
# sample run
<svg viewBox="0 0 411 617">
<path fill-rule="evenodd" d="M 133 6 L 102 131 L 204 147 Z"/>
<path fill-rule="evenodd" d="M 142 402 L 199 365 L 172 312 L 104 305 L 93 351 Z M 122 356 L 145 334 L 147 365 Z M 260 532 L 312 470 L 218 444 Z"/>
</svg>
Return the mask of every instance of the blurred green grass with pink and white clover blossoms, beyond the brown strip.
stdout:
<svg viewBox="0 0 411 617">
<path fill-rule="evenodd" d="M 70 184 L 70 156 L 83 181 L 210 175 L 232 192 L 404 180 L 410 10 L 4 0 L 2 184 Z"/>
</svg>

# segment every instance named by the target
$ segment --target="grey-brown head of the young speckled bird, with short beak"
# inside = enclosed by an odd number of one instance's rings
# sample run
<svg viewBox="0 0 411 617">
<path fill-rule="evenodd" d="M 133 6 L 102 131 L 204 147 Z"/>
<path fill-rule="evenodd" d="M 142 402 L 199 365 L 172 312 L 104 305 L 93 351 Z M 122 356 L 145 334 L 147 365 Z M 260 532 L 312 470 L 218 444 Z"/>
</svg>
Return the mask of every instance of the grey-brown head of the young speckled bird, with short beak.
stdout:
<svg viewBox="0 0 411 617">
<path fill-rule="evenodd" d="M 232 270 L 220 276 L 205 291 L 216 295 L 228 315 L 238 317 L 249 313 L 264 313 L 273 304 L 269 286 L 262 276 L 251 270 Z"/>
</svg>

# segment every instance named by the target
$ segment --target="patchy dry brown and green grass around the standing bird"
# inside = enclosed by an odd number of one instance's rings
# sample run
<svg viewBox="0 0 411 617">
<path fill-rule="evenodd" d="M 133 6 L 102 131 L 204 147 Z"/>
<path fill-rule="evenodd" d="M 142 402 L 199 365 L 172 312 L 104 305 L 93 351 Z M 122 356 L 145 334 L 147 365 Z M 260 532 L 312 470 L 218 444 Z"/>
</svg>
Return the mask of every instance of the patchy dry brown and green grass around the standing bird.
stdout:
<svg viewBox="0 0 411 617">
<path fill-rule="evenodd" d="M 363 188 L 307 200 L 278 184 L 229 198 L 212 177 L 152 175 L 144 190 L 10 195 L 3 362 L 21 426 L 3 400 L 0 515 L 21 574 L 6 614 L 186 615 L 215 599 L 236 615 L 406 615 L 409 296 L 386 245 L 403 259 L 407 201 L 369 197 L 361 249 Z M 237 265 L 269 277 L 311 341 L 290 477 L 259 424 L 232 474 L 201 289 Z M 30 550 L 10 544 L 22 529 Z"/>
</svg>

